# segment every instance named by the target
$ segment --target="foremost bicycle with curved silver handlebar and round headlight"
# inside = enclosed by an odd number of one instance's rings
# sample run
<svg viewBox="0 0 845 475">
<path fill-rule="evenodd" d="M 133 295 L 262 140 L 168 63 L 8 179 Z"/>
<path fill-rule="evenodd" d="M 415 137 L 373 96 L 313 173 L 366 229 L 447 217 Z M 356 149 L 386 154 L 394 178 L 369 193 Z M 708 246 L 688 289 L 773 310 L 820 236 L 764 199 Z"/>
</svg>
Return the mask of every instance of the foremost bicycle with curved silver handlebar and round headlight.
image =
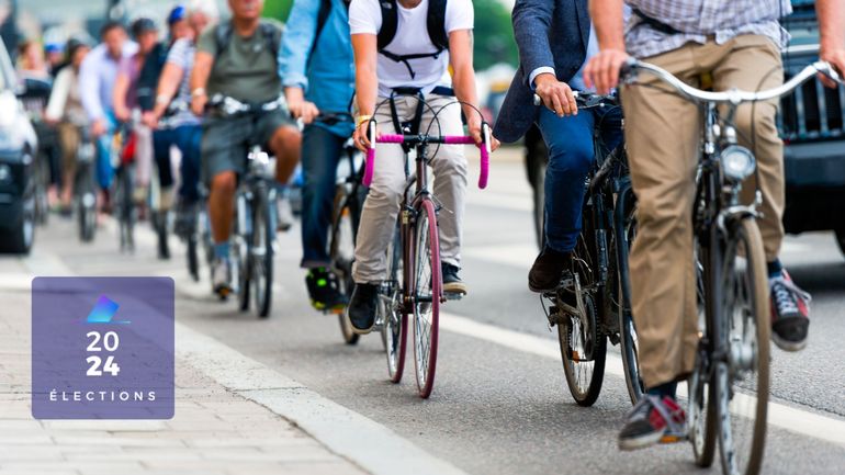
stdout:
<svg viewBox="0 0 845 475">
<path fill-rule="evenodd" d="M 710 92 L 632 59 L 623 67 L 624 82 L 635 82 L 640 71 L 703 110 L 692 214 L 701 338 L 689 380 L 688 438 L 698 465 L 712 464 L 718 439 L 724 473 L 756 475 L 766 438 L 770 317 L 763 240 L 755 220 L 762 193 L 757 190 L 751 205 L 739 199 L 756 162 L 751 150 L 736 144 L 733 121 L 739 105 L 786 95 L 818 73 L 841 83 L 842 79 L 829 64 L 818 61 L 770 90 Z M 718 106 L 724 108 L 722 114 Z"/>
</svg>

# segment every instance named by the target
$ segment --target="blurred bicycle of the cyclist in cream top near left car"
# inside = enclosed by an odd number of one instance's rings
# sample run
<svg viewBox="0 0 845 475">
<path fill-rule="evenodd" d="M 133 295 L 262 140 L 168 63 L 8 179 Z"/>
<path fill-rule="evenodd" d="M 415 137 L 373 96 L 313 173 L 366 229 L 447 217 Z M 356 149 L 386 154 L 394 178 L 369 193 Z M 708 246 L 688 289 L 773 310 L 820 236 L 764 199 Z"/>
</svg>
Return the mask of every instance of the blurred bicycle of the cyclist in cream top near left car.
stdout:
<svg viewBox="0 0 845 475">
<path fill-rule="evenodd" d="M 91 242 L 97 230 L 97 185 L 94 158 L 97 148 L 88 127 L 79 127 L 77 168 L 74 176 L 74 207 L 76 208 L 79 239 Z"/>
</svg>

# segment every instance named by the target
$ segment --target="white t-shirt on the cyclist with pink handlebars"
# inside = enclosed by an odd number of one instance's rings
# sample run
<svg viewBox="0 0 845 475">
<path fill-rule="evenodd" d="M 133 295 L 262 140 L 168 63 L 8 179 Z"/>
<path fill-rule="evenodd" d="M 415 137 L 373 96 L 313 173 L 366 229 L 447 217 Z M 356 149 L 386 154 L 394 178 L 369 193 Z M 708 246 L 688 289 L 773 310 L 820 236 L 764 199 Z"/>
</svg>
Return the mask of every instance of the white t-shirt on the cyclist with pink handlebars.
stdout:
<svg viewBox="0 0 845 475">
<path fill-rule="evenodd" d="M 406 9 L 396 3 L 398 15 L 396 35 L 385 49 L 394 55 L 405 56 L 435 53 L 437 47 L 428 37 L 428 0 L 422 0 L 414 9 Z M 446 3 L 446 32 L 472 30 L 474 12 L 472 0 L 448 0 Z M 378 35 L 382 26 L 382 10 L 379 0 L 352 0 L 349 5 L 349 30 L 351 34 Z M 450 86 L 449 52 L 444 50 L 435 57 L 409 59 L 414 70 L 412 78 L 407 66 L 401 61 L 379 54 L 376 70 L 379 75 L 379 95 L 390 97 L 394 88 L 420 88 L 429 93 L 437 86 Z"/>
</svg>

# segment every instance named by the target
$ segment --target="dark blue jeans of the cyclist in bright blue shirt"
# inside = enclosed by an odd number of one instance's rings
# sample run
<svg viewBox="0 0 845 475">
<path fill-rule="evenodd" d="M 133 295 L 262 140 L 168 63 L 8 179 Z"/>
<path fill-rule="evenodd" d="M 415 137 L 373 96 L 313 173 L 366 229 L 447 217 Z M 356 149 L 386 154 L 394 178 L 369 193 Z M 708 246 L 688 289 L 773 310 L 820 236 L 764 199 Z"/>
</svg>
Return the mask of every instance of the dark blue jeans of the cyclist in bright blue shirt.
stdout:
<svg viewBox="0 0 845 475">
<path fill-rule="evenodd" d="M 328 229 L 337 185 L 337 167 L 347 137 L 319 125 L 302 133 L 302 263 L 305 269 L 328 267 Z"/>
</svg>

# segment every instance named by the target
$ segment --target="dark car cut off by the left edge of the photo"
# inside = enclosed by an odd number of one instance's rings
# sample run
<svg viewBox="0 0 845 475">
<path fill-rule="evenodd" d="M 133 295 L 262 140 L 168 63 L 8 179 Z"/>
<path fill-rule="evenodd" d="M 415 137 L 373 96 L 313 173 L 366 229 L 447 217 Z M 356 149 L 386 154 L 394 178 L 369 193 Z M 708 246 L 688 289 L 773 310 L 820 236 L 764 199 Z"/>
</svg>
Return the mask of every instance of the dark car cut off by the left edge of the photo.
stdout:
<svg viewBox="0 0 845 475">
<path fill-rule="evenodd" d="M 0 41 L 0 251 L 26 253 L 35 234 L 33 157 L 37 138 L 20 84 Z"/>
</svg>

